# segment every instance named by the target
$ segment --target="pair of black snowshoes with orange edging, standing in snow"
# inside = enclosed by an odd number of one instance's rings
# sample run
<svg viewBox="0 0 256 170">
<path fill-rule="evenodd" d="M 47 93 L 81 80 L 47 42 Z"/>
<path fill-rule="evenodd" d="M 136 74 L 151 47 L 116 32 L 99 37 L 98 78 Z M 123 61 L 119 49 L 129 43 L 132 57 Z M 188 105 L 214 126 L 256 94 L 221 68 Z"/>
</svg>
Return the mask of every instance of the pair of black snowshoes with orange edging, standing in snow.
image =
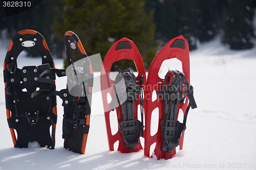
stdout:
<svg viewBox="0 0 256 170">
<path fill-rule="evenodd" d="M 7 120 L 15 148 L 28 148 L 36 142 L 40 147 L 54 149 L 56 95 L 59 95 L 64 107 L 64 148 L 84 154 L 92 99 L 92 79 L 89 77 L 93 77 L 93 70 L 78 36 L 68 31 L 64 37 L 69 65 L 67 70 L 54 68 L 52 55 L 40 33 L 23 30 L 11 40 L 4 63 L 4 82 Z M 18 68 L 17 58 L 27 49 L 35 50 L 41 56 L 41 65 Z M 86 61 L 82 63 L 83 69 L 74 67 L 72 55 L 75 51 Z M 66 89 L 56 91 L 56 75 L 68 77 Z M 84 79 L 78 80 L 78 75 Z M 72 86 L 69 86 L 70 82 Z"/>
</svg>

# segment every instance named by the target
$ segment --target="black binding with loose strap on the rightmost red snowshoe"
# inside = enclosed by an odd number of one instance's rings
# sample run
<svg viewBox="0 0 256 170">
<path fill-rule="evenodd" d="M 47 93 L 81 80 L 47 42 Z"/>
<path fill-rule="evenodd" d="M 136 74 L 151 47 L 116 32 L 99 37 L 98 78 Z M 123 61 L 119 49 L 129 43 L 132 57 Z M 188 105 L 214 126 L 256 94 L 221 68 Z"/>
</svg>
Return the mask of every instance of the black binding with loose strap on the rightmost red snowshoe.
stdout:
<svg viewBox="0 0 256 170">
<path fill-rule="evenodd" d="M 185 87 L 185 90 L 183 91 Z M 188 84 L 185 75 L 180 71 L 168 71 L 165 79 L 163 90 L 157 91 L 162 96 L 164 102 L 163 120 L 161 122 L 162 130 L 162 150 L 163 152 L 172 152 L 178 145 L 181 133 L 186 129 L 186 119 L 189 108 L 197 108 L 193 95 L 193 86 Z M 182 96 L 183 94 L 183 96 Z M 189 104 L 184 113 L 183 123 L 176 120 L 178 116 L 178 104 L 181 104 L 186 95 Z"/>
</svg>

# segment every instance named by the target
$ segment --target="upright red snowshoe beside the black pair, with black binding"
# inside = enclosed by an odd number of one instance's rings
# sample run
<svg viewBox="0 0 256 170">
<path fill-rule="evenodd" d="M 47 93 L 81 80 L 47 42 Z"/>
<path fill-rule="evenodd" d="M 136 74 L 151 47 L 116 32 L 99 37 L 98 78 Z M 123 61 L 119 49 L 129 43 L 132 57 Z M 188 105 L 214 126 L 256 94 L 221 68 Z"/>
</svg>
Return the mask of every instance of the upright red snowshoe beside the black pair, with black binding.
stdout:
<svg viewBox="0 0 256 170">
<path fill-rule="evenodd" d="M 133 60 L 138 76 L 129 69 L 121 71 L 115 81 L 110 78 L 111 66 L 121 59 Z M 114 143 L 119 141 L 118 151 L 121 153 L 137 152 L 142 149 L 140 136 L 143 136 L 143 93 L 145 93 L 145 68 L 133 41 L 121 38 L 115 42 L 106 54 L 101 69 L 101 94 L 104 107 L 106 131 L 109 150 L 114 151 Z M 108 103 L 108 94 L 112 101 Z M 141 107 L 141 122 L 138 120 L 138 105 Z M 112 135 L 110 113 L 117 115 L 118 131 Z"/>
</svg>

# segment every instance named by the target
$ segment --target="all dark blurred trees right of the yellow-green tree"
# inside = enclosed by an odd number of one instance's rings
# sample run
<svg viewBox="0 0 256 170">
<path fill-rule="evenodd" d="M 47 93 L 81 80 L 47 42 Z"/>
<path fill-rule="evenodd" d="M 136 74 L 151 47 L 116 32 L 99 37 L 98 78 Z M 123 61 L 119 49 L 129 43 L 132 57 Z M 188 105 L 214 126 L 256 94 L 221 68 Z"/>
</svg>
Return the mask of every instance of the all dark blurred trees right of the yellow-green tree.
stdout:
<svg viewBox="0 0 256 170">
<path fill-rule="evenodd" d="M 253 46 L 255 0 L 147 0 L 146 7 L 156 9 L 156 38 L 164 43 L 183 35 L 194 50 L 219 34 L 231 49 Z"/>
</svg>

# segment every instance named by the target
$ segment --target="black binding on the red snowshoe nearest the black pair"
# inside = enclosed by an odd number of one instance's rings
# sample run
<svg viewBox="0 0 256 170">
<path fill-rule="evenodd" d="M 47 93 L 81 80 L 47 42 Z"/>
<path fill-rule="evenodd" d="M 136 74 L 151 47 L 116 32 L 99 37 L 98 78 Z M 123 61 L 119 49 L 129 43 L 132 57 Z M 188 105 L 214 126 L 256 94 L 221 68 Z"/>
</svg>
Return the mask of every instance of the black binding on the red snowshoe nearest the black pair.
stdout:
<svg viewBox="0 0 256 170">
<path fill-rule="evenodd" d="M 140 84 L 136 84 L 136 78 L 133 72 L 127 68 L 125 71 L 119 70 L 115 80 L 115 95 L 110 104 L 110 110 L 114 111 L 115 105 L 118 103 L 117 113 L 121 107 L 122 121 L 119 123 L 117 114 L 117 121 L 120 132 L 124 140 L 124 146 L 127 149 L 135 149 L 140 141 L 142 132 L 143 137 L 143 108 L 141 112 L 142 123 L 135 118 L 135 102 L 138 95 L 142 93 L 143 77 L 140 78 Z M 142 94 L 141 94 L 142 95 Z M 141 101 L 143 99 L 140 99 Z M 142 102 L 140 103 L 142 104 Z M 141 105 L 143 107 L 143 105 Z"/>
</svg>

